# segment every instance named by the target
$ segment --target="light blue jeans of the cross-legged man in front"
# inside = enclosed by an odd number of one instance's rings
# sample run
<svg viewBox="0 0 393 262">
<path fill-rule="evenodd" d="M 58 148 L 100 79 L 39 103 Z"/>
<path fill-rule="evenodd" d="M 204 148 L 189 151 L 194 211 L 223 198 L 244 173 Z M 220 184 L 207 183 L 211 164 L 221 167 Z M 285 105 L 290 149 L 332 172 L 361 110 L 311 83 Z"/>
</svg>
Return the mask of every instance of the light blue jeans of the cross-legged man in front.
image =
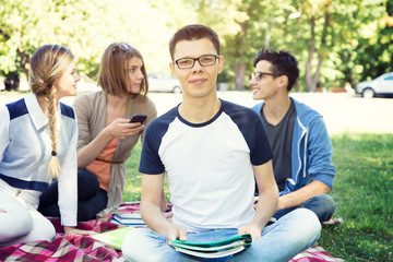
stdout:
<svg viewBox="0 0 393 262">
<path fill-rule="evenodd" d="M 283 216 L 262 231 L 262 237 L 246 250 L 221 259 L 201 259 L 176 251 L 167 239 L 147 228 L 130 231 L 122 243 L 127 261 L 289 261 L 313 245 L 320 237 L 321 224 L 315 214 L 307 209 L 297 209 Z M 189 233 L 188 241 L 211 242 L 238 235 L 237 228 L 218 228 L 202 233 Z"/>
</svg>

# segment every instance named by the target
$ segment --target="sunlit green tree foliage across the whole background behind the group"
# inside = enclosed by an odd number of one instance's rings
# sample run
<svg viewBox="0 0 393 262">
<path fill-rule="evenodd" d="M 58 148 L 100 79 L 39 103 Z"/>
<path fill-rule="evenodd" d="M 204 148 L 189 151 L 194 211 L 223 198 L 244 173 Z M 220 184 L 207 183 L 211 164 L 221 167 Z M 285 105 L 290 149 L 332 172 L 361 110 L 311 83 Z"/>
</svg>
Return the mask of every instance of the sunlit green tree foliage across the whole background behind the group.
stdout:
<svg viewBox="0 0 393 262">
<path fill-rule="evenodd" d="M 269 46 L 299 60 L 300 90 L 306 72 L 327 88 L 354 85 L 393 71 L 392 7 L 393 0 L 1 0 L 0 74 L 28 73 L 34 50 L 56 43 L 70 47 L 78 70 L 95 78 L 114 41 L 140 49 L 147 70 L 169 72 L 171 35 L 202 23 L 222 40 L 225 69 L 218 81 L 247 86 L 254 55 Z"/>
</svg>

